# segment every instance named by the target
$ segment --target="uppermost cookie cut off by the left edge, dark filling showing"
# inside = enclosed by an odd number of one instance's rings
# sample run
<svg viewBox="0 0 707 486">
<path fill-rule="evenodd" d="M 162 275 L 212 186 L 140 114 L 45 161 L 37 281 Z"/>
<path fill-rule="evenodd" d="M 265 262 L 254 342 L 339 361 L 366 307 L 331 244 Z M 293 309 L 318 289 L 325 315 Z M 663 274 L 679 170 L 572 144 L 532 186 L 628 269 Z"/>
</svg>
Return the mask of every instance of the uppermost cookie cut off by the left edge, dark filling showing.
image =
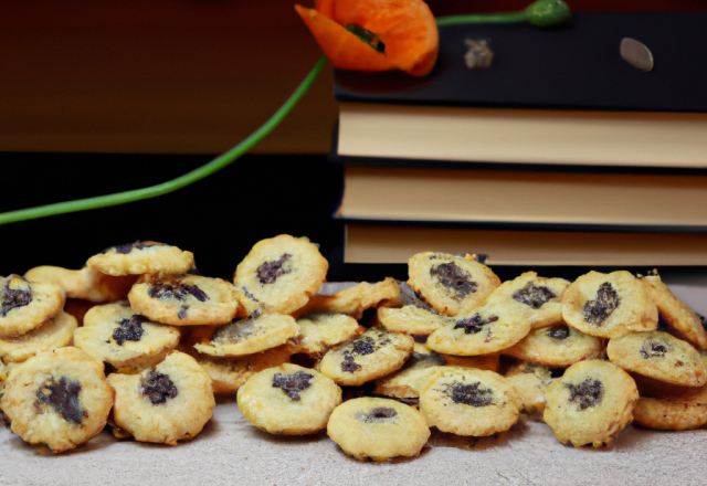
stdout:
<svg viewBox="0 0 707 486">
<path fill-rule="evenodd" d="M 65 299 L 56 285 L 28 282 L 14 274 L 0 277 L 0 339 L 36 329 L 59 314 Z"/>
</svg>

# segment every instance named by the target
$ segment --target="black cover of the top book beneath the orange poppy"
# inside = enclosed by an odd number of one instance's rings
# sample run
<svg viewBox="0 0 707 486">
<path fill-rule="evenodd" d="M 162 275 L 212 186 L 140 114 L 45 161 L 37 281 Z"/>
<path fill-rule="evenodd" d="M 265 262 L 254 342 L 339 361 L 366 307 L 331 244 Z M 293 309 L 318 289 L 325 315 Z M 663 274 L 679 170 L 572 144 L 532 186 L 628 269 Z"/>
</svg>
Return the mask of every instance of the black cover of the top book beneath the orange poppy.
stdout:
<svg viewBox="0 0 707 486">
<path fill-rule="evenodd" d="M 707 13 L 576 13 L 561 27 L 527 23 L 440 28 L 440 56 L 426 77 L 335 71 L 339 102 L 446 106 L 707 112 Z M 643 42 L 654 67 L 619 52 Z M 464 63 L 465 40 L 486 39 L 488 68 Z"/>
</svg>

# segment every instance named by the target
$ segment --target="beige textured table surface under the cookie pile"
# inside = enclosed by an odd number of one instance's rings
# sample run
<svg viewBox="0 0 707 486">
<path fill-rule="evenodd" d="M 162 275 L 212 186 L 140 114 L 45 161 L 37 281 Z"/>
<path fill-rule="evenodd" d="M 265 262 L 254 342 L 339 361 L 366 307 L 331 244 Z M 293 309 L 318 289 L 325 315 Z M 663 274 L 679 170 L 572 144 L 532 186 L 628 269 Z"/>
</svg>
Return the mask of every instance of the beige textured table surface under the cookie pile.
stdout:
<svg viewBox="0 0 707 486">
<path fill-rule="evenodd" d="M 672 288 L 707 314 L 701 278 L 673 277 Z M 458 444 L 457 444 L 458 445 Z M 103 432 L 78 448 L 40 454 L 0 426 L 0 486 L 7 485 L 704 485 L 707 430 L 659 432 L 630 425 L 612 447 L 576 450 L 544 423 L 523 418 L 473 448 L 433 439 L 415 459 L 360 463 L 326 434 L 268 435 L 219 399 L 211 422 L 176 447 L 117 441 Z"/>
</svg>

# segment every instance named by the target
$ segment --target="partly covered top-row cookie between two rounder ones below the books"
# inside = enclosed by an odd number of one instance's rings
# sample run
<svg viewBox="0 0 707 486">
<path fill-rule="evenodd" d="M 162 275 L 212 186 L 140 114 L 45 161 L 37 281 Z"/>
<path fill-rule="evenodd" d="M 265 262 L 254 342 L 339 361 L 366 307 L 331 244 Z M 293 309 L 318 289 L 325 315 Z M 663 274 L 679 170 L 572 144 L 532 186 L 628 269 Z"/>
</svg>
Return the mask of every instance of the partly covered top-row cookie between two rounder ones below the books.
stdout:
<svg viewBox="0 0 707 486">
<path fill-rule="evenodd" d="M 570 283 L 564 278 L 539 277 L 526 272 L 504 282 L 487 302 L 498 302 L 510 311 L 525 315 L 534 329 L 562 323 L 562 294 Z"/>
</svg>

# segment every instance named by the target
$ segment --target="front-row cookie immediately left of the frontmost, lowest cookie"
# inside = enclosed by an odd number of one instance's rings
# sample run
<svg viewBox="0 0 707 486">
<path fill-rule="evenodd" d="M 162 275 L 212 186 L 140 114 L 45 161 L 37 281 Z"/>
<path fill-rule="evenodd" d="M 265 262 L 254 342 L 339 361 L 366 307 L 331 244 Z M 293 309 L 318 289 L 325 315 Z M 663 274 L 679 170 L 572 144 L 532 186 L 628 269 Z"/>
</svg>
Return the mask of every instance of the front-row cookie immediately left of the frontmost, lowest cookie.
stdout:
<svg viewBox="0 0 707 486">
<path fill-rule="evenodd" d="M 327 426 L 341 403 L 341 389 L 324 374 L 297 364 L 268 368 L 239 390 L 239 409 L 257 429 L 271 434 L 314 434 Z"/>
</svg>

